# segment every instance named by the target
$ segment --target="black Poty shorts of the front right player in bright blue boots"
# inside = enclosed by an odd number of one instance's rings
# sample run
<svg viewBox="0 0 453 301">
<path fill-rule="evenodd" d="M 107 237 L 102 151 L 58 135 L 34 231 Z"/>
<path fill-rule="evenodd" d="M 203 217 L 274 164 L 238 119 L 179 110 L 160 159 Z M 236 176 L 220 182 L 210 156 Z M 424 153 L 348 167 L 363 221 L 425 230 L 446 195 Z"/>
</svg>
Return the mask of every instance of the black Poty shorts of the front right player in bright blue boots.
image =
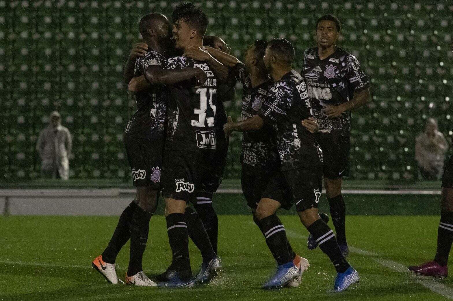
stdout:
<svg viewBox="0 0 453 301">
<path fill-rule="evenodd" d="M 323 183 L 322 168 L 291 169 L 272 174 L 263 198 L 280 202 L 289 210 L 296 204 L 297 212 L 318 208 Z"/>
</svg>

